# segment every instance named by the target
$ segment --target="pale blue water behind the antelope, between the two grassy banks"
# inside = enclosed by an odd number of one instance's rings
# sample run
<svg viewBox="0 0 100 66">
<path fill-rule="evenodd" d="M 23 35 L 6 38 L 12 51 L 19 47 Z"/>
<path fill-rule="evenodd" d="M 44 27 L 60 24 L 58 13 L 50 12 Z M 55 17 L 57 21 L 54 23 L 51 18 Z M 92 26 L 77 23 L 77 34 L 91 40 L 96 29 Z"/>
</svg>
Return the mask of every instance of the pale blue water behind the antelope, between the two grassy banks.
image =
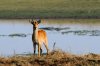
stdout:
<svg viewBox="0 0 100 66">
<path fill-rule="evenodd" d="M 73 54 L 100 54 L 99 19 L 42 19 L 39 28 L 47 32 L 50 50 L 55 43 Z M 32 32 L 28 19 L 0 20 L 0 56 L 33 53 Z"/>
</svg>

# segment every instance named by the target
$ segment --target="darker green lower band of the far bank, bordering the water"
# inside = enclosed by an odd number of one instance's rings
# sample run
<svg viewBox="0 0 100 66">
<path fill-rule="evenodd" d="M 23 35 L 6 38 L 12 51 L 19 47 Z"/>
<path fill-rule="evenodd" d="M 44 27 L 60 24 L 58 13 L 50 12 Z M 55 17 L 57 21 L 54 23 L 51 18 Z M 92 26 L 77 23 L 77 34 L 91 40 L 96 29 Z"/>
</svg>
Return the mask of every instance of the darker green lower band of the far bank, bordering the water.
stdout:
<svg viewBox="0 0 100 66">
<path fill-rule="evenodd" d="M 40 11 L 0 11 L 0 19 L 100 19 L 100 11 L 91 10 L 88 13 L 86 10 L 73 10 L 65 12 L 40 12 Z"/>
</svg>

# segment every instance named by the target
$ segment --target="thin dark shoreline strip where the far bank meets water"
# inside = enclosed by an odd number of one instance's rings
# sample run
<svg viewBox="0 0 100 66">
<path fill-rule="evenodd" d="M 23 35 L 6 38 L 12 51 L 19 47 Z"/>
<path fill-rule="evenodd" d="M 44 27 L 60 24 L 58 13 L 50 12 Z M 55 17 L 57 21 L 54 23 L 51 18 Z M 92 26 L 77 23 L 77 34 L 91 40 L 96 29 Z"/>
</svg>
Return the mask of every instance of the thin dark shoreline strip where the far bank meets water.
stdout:
<svg viewBox="0 0 100 66">
<path fill-rule="evenodd" d="M 0 19 L 100 19 L 97 16 L 86 16 L 86 17 L 0 17 Z"/>
</svg>

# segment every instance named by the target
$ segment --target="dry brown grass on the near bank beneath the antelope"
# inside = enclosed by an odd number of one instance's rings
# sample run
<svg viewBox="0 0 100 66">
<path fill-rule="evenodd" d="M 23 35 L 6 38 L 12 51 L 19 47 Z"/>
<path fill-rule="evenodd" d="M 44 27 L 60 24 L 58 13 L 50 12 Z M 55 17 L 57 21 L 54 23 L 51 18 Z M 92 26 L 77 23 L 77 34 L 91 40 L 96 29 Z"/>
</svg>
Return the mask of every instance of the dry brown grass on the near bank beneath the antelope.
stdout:
<svg viewBox="0 0 100 66">
<path fill-rule="evenodd" d="M 63 51 L 52 51 L 48 56 L 0 57 L 0 66 L 100 66 L 100 55 L 89 53 L 78 56 Z"/>
</svg>

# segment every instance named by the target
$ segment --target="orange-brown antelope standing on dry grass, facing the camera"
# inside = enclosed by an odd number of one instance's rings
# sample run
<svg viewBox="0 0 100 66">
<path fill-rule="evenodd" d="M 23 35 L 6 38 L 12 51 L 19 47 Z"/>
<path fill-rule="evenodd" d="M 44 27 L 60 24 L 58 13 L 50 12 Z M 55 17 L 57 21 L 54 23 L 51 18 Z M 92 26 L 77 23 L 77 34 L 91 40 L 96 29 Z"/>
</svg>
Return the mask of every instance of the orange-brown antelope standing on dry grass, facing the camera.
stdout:
<svg viewBox="0 0 100 66">
<path fill-rule="evenodd" d="M 36 52 L 36 45 L 38 46 L 38 56 L 42 54 L 42 44 L 44 44 L 47 54 L 48 54 L 48 39 L 46 32 L 42 29 L 38 29 L 41 20 L 29 20 L 29 22 L 33 25 L 33 34 L 32 34 L 32 41 L 33 41 L 33 48 L 34 54 Z"/>
</svg>

